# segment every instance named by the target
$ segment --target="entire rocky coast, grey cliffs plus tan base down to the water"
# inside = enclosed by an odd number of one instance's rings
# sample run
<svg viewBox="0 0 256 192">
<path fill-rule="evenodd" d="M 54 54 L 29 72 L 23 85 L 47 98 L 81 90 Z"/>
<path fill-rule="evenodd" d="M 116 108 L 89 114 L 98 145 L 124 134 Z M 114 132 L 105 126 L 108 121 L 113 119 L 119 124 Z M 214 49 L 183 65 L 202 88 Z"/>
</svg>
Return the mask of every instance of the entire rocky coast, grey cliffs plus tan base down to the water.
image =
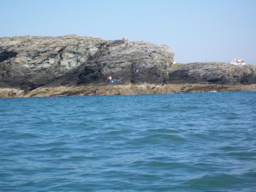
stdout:
<svg viewBox="0 0 256 192">
<path fill-rule="evenodd" d="M 0 38 L 0 97 L 256 90 L 254 65 L 173 62 L 168 46 L 150 42 Z"/>
</svg>

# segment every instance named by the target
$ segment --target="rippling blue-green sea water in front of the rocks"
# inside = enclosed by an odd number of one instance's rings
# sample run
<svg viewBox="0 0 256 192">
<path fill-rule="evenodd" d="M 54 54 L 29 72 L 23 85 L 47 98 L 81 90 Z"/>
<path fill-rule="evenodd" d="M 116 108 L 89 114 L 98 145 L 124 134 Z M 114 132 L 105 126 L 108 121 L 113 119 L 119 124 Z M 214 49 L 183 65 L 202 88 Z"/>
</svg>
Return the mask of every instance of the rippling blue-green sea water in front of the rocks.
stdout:
<svg viewBox="0 0 256 192">
<path fill-rule="evenodd" d="M 0 99 L 0 191 L 256 191 L 256 92 Z"/>
</svg>

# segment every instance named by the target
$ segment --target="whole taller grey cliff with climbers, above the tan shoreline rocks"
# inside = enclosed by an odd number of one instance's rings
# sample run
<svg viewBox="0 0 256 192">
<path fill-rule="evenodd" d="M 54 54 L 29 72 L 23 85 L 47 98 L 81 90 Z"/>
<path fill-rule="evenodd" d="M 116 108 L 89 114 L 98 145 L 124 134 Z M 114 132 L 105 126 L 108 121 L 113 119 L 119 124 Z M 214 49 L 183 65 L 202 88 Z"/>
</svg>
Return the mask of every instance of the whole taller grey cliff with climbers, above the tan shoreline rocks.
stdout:
<svg viewBox="0 0 256 192">
<path fill-rule="evenodd" d="M 155 46 L 76 35 L 0 38 L 0 86 L 32 90 L 48 83 L 102 84 L 110 75 L 122 77 L 122 83 L 165 82 L 174 52 L 160 45 L 150 57 L 144 50 Z M 134 73 L 140 65 L 141 73 Z"/>
</svg>

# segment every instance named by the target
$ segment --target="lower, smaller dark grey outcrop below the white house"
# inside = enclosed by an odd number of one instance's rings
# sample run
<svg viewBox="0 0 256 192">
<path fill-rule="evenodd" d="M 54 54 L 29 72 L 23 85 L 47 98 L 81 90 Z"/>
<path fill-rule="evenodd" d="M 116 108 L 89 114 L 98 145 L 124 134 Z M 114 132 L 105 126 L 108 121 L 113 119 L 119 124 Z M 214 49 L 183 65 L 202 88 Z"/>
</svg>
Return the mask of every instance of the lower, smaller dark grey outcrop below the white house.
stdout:
<svg viewBox="0 0 256 192">
<path fill-rule="evenodd" d="M 169 83 L 250 84 L 256 83 L 256 66 L 223 62 L 190 63 L 169 72 Z"/>
</svg>

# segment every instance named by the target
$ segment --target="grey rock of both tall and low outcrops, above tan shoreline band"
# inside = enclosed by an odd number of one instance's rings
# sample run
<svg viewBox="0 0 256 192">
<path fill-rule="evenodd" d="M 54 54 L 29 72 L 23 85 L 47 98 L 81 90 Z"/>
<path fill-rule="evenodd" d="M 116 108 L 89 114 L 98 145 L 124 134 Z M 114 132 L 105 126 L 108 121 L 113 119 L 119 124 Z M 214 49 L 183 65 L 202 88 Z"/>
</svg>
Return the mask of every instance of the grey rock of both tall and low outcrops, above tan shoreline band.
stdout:
<svg viewBox="0 0 256 192">
<path fill-rule="evenodd" d="M 145 51 L 155 47 L 157 53 L 152 56 Z M 43 85 L 98 86 L 108 76 L 120 78 L 122 84 L 256 83 L 253 65 L 212 62 L 168 68 L 173 58 L 168 46 L 150 42 L 76 35 L 0 38 L 0 87 L 27 92 Z"/>
</svg>

